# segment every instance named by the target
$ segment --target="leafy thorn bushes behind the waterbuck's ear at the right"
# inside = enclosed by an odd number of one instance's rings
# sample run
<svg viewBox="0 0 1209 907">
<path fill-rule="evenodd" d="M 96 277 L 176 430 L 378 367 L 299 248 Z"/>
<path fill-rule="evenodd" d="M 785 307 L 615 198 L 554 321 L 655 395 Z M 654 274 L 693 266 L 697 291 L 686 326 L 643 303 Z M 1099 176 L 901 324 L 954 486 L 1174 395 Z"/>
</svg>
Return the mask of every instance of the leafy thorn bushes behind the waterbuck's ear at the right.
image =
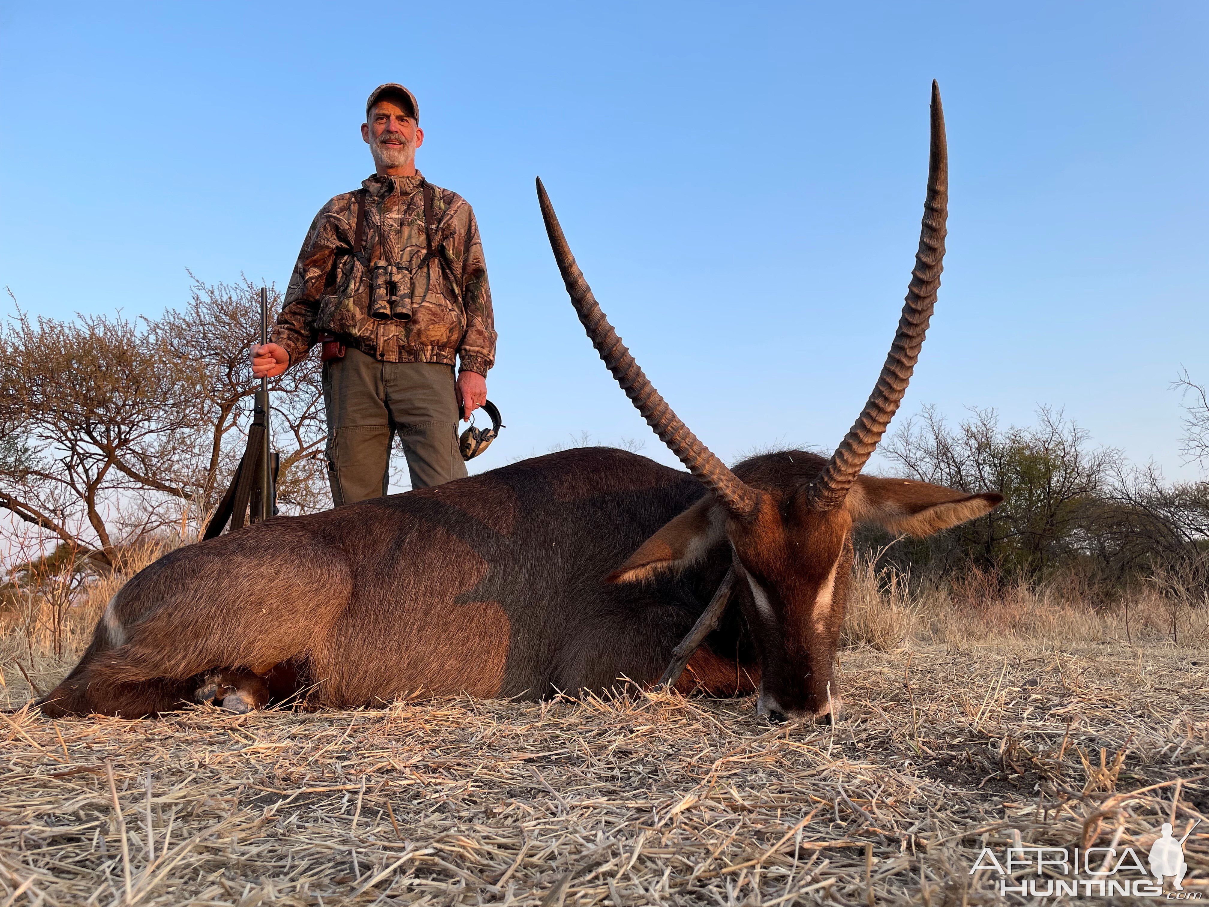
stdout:
<svg viewBox="0 0 1209 907">
<path fill-rule="evenodd" d="M 881 451 L 903 476 L 1005 497 L 987 516 L 896 545 L 893 560 L 942 572 L 973 566 L 1000 579 L 1076 568 L 1109 585 L 1205 565 L 1209 589 L 1209 481 L 1168 483 L 1153 463 L 1093 447 L 1060 412 L 1041 409 L 1031 427 L 1001 428 L 994 410 L 973 410 L 954 427 L 926 408 Z"/>
</svg>

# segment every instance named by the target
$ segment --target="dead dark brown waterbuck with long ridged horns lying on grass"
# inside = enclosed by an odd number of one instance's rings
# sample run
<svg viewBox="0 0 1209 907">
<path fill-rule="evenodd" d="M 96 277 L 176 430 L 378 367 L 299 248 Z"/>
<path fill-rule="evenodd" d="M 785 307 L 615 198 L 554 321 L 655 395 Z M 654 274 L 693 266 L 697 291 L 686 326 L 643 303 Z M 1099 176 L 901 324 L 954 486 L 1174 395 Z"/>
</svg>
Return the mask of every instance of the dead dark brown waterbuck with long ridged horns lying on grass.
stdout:
<svg viewBox="0 0 1209 907">
<path fill-rule="evenodd" d="M 538 197 L 571 300 L 604 364 L 688 467 L 607 447 L 308 516 L 164 555 L 110 602 L 92 645 L 41 703 L 128 717 L 220 700 L 245 710 L 307 686 L 330 706 L 404 693 L 540 698 L 652 684 L 700 620 L 681 689 L 759 689 L 774 720 L 831 720 L 852 527 L 927 535 L 999 495 L 861 475 L 902 400 L 939 287 L 947 152 L 932 86 L 927 201 L 890 356 L 829 460 L 805 451 L 728 469 L 672 412 L 613 331 Z M 675 675 L 676 671 L 672 671 Z"/>
</svg>

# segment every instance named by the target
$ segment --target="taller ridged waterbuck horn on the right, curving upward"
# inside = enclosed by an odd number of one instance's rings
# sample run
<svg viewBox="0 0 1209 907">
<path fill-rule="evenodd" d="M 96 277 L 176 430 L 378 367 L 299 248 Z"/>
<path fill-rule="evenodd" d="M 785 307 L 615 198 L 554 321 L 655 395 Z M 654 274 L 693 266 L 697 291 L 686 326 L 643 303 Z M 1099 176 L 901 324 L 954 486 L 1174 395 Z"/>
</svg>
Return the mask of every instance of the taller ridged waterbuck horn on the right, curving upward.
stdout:
<svg viewBox="0 0 1209 907">
<path fill-rule="evenodd" d="M 890 347 L 881 376 L 869 394 L 869 401 L 857 417 L 852 431 L 832 454 L 817 483 L 811 489 L 810 504 L 816 510 L 831 510 L 843 503 L 848 490 L 873 455 L 885 434 L 898 404 L 902 403 L 919 349 L 924 345 L 927 322 L 936 306 L 944 260 L 945 219 L 949 206 L 949 151 L 944 139 L 944 110 L 941 89 L 932 82 L 932 148 L 927 166 L 927 197 L 924 202 L 924 223 L 915 253 L 907 302 L 895 342 Z"/>
</svg>

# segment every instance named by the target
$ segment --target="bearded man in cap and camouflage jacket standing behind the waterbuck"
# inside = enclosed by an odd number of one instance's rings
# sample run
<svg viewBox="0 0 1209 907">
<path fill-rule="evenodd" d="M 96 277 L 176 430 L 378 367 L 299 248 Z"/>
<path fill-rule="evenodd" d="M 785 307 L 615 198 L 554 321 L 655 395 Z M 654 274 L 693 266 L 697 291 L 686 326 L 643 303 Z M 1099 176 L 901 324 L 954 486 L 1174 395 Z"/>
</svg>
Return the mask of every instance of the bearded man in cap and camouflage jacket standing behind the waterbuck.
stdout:
<svg viewBox="0 0 1209 907">
<path fill-rule="evenodd" d="M 486 401 L 496 356 L 474 212 L 416 169 L 424 132 L 415 96 L 375 88 L 361 138 L 375 174 L 316 215 L 272 342 L 251 351 L 253 374 L 273 377 L 323 341 L 336 507 L 386 493 L 395 434 L 413 489 L 463 478 L 458 412 L 468 418 Z"/>
</svg>

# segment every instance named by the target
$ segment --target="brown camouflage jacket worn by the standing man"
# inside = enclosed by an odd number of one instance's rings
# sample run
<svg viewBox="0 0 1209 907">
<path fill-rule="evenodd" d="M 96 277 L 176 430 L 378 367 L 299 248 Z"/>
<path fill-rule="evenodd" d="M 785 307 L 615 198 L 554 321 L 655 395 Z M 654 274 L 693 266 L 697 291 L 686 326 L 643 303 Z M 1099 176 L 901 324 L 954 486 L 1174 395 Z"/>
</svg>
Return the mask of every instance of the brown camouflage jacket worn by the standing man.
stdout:
<svg viewBox="0 0 1209 907">
<path fill-rule="evenodd" d="M 433 186 L 433 256 L 424 232 L 423 177 L 374 175 L 365 189 L 364 256 L 353 255 L 359 192 L 337 195 L 302 243 L 272 340 L 295 363 L 319 334 L 383 362 L 435 362 L 486 375 L 496 359 L 494 316 L 474 212 Z M 370 271 L 397 265 L 410 322 L 370 317 Z M 366 267 L 369 265 L 369 267 Z"/>
</svg>

